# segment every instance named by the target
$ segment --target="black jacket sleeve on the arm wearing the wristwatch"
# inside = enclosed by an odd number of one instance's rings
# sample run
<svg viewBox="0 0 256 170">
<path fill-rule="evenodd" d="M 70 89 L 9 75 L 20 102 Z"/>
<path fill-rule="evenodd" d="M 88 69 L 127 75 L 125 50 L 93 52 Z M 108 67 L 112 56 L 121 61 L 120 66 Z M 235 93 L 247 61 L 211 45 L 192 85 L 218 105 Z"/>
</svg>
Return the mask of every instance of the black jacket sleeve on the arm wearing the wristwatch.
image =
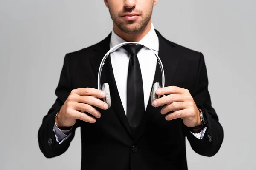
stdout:
<svg viewBox="0 0 256 170">
<path fill-rule="evenodd" d="M 188 127 L 185 127 L 185 129 L 187 139 L 192 149 L 196 153 L 203 156 L 214 156 L 221 147 L 224 134 L 215 109 L 212 108 L 211 98 L 208 91 L 208 84 L 209 83 L 204 56 L 202 53 L 200 53 L 198 74 L 195 87 L 192 90 L 192 97 L 196 105 L 204 108 L 205 116 L 209 126 L 207 127 L 203 139 L 198 139 L 193 136 L 190 133 Z"/>
</svg>

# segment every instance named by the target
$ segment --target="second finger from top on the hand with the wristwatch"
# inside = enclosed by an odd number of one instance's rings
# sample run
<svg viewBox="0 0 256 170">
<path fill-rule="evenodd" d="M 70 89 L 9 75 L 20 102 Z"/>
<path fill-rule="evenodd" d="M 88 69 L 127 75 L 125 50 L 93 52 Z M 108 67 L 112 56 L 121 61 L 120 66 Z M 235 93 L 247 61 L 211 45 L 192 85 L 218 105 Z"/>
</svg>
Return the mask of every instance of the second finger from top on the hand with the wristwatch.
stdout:
<svg viewBox="0 0 256 170">
<path fill-rule="evenodd" d="M 184 101 L 185 101 L 185 96 L 181 94 L 170 94 L 168 96 L 164 95 L 159 99 L 155 99 L 152 105 L 155 107 L 158 107 L 165 104 L 169 105 L 172 102 L 184 102 Z"/>
</svg>

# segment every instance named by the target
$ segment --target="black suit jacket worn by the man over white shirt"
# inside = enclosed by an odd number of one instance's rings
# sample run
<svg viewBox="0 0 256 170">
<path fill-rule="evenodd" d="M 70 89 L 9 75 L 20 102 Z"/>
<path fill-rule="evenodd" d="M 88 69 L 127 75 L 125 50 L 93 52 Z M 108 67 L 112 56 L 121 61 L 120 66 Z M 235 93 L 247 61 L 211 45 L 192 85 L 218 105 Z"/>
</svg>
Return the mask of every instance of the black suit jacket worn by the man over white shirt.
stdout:
<svg viewBox="0 0 256 170">
<path fill-rule="evenodd" d="M 160 113 L 162 107 L 152 107 L 150 99 L 137 132 L 132 134 L 108 57 L 102 71 L 102 84 L 108 82 L 110 85 L 111 108 L 99 109 L 102 117 L 94 124 L 77 120 L 72 135 L 62 144 L 56 142 L 52 131 L 55 115 L 71 90 L 97 88 L 99 65 L 109 50 L 109 34 L 101 42 L 64 57 L 55 91 L 57 99 L 44 116 L 38 131 L 39 147 L 44 156 L 51 158 L 64 153 L 75 135 L 76 127 L 81 127 L 82 170 L 186 170 L 185 137 L 200 155 L 213 156 L 218 152 L 223 141 L 223 129 L 211 105 L 203 54 L 170 42 L 156 32 L 159 37 L 159 57 L 165 71 L 165 86 L 189 89 L 195 103 L 206 110 L 209 127 L 204 138 L 200 140 L 193 136 L 182 119 L 166 121 L 165 115 Z M 159 65 L 154 82 L 161 82 Z"/>
</svg>

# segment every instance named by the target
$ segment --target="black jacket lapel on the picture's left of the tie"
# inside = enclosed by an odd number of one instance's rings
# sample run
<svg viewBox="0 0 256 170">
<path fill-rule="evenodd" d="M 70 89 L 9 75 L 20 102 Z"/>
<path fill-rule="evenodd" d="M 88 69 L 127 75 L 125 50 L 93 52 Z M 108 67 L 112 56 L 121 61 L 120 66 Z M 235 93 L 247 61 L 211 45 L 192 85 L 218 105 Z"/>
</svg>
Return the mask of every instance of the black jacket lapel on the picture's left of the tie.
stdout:
<svg viewBox="0 0 256 170">
<path fill-rule="evenodd" d="M 109 47 L 110 37 L 111 37 L 111 34 L 109 34 L 107 38 L 105 38 L 104 40 L 99 42 L 99 44 L 96 45 L 94 48 L 94 50 L 97 51 L 96 55 L 90 57 L 90 62 L 91 62 L 92 68 L 93 68 L 93 72 L 97 79 L 98 79 L 99 65 L 102 61 L 102 58 L 105 56 L 105 54 L 110 49 L 110 47 Z M 119 92 L 118 92 L 118 89 L 116 86 L 116 81 L 115 81 L 114 74 L 113 74 L 113 68 L 111 65 L 110 55 L 105 60 L 105 64 L 102 68 L 101 85 L 103 85 L 104 83 L 108 83 L 109 88 L 110 88 L 111 107 L 108 108 L 108 110 L 111 111 L 113 109 L 113 111 L 118 116 L 120 122 L 124 126 L 125 130 L 132 137 L 131 128 L 130 128 L 128 119 L 125 115 L 125 111 L 123 109 L 122 102 L 121 102 L 121 99 L 119 96 Z"/>
</svg>

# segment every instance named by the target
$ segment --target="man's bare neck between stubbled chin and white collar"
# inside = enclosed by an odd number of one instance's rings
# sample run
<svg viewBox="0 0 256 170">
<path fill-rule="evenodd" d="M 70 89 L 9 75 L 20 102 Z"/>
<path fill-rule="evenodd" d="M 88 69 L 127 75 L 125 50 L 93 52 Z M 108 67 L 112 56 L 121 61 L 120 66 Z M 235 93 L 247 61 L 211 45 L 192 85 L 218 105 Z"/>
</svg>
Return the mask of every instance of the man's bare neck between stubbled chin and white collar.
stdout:
<svg viewBox="0 0 256 170">
<path fill-rule="evenodd" d="M 148 22 L 147 26 L 145 26 L 145 28 L 143 30 L 141 30 L 140 32 L 136 32 L 136 33 L 125 33 L 123 31 L 121 31 L 116 24 L 113 24 L 113 30 L 114 32 L 121 37 L 122 39 L 124 39 L 125 41 L 132 41 L 132 42 L 139 42 L 141 39 L 143 39 L 143 37 L 145 37 L 146 34 L 148 34 L 148 32 L 151 29 L 151 20 Z"/>
</svg>

